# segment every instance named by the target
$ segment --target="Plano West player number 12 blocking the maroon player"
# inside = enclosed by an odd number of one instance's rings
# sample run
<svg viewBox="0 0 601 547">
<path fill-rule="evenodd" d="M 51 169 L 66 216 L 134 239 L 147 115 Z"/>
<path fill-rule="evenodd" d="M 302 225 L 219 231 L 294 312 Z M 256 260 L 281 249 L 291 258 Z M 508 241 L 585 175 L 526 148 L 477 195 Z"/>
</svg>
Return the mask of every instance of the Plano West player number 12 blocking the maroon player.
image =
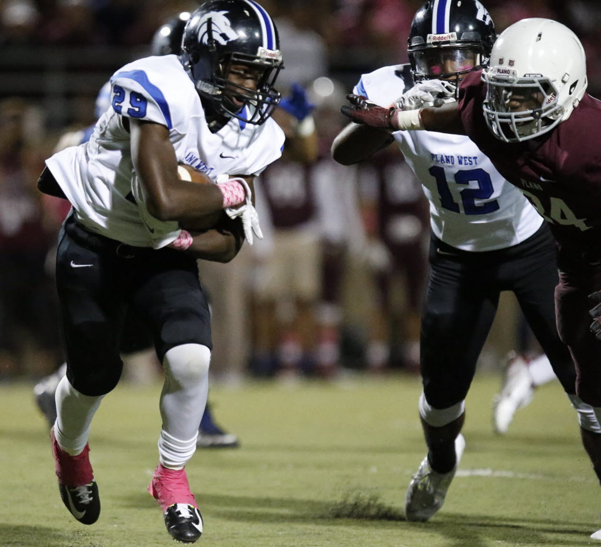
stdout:
<svg viewBox="0 0 601 547">
<path fill-rule="evenodd" d="M 356 108 L 368 103 L 387 107 L 399 97 L 407 108 L 415 102 L 454 100 L 460 79 L 488 62 L 495 37 L 490 15 L 478 0 L 426 2 L 413 19 L 410 65 L 362 76 L 349 97 Z M 580 415 L 592 412 L 575 395 L 575 367 L 555 325 L 558 274 L 553 238 L 543 219 L 465 136 L 352 123 L 338 135 L 332 154 L 350 165 L 393 141 L 430 201 L 419 399 L 428 454 L 406 495 L 407 520 L 427 521 L 442 507 L 465 447 L 460 434 L 464 401 L 502 290 L 516 295 L 573 406 Z"/>
</svg>

